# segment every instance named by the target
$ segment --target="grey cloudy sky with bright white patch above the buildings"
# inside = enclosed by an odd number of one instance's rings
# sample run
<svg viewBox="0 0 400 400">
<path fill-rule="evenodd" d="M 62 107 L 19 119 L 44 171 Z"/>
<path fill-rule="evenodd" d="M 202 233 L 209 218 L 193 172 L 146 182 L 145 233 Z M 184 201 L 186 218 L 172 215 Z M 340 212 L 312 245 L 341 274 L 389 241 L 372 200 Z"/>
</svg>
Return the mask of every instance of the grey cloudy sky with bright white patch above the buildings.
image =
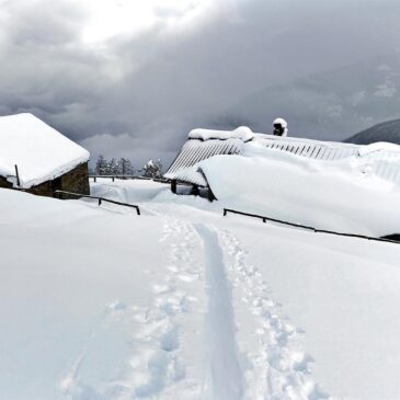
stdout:
<svg viewBox="0 0 400 400">
<path fill-rule="evenodd" d="M 399 37 L 397 0 L 0 0 L 0 114 L 32 112 L 93 158 L 168 163 L 252 93 Z"/>
</svg>

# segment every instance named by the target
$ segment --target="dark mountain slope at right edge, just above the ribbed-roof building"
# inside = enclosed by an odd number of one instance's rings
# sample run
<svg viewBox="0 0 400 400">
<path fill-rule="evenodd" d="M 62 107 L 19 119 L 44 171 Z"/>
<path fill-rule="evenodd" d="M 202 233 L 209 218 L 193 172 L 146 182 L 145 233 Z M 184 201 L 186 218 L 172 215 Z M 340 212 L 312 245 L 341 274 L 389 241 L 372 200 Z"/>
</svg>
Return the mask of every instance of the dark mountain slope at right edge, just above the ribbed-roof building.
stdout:
<svg viewBox="0 0 400 400">
<path fill-rule="evenodd" d="M 400 145 L 400 119 L 387 121 L 362 130 L 344 141 L 356 145 L 369 145 L 376 141 L 388 141 Z"/>
</svg>

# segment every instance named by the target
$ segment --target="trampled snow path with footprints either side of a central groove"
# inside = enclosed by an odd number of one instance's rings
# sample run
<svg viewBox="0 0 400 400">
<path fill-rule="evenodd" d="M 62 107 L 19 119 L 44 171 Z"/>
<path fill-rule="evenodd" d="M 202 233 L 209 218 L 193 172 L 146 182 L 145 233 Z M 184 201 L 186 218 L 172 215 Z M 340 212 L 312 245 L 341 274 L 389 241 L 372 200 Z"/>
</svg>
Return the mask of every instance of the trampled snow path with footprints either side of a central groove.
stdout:
<svg viewBox="0 0 400 400">
<path fill-rule="evenodd" d="M 160 242 L 171 242 L 165 276 L 153 283 L 153 301 L 147 309 L 108 306 L 98 324 L 114 311 L 135 320 L 130 358 L 117 379 L 101 388 L 80 381 L 83 348 L 60 387 L 71 400 L 319 400 L 332 398 L 310 377 L 312 358 L 299 348 L 301 332 L 281 316 L 279 305 L 247 252 L 228 230 L 190 224 L 165 216 L 156 207 L 147 212 L 163 220 Z M 202 250 L 199 250 L 202 249 Z M 204 265 L 203 265 L 204 262 Z M 202 354 L 203 378 L 186 374 L 182 354 L 185 315 L 202 310 L 188 295 L 188 284 L 205 290 Z M 186 289 L 187 288 L 187 289 Z M 249 332 L 237 327 L 240 308 L 244 321 L 255 327 L 251 350 Z M 93 328 L 95 330 L 95 327 Z M 92 336 L 91 333 L 90 336 Z M 90 338 L 89 338 L 90 340 Z M 203 346 L 203 347 L 202 347 Z M 85 346 L 84 346 L 85 347 Z M 203 380 L 202 380 L 203 379 Z"/>
</svg>

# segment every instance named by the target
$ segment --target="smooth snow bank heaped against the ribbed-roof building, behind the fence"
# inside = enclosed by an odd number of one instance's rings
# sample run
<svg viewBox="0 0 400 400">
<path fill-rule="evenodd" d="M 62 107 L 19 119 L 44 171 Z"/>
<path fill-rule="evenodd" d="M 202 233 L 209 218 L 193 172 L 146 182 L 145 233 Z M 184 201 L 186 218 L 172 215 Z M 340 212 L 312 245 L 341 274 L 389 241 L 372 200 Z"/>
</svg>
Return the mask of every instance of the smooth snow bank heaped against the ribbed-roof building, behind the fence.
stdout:
<svg viewBox="0 0 400 400">
<path fill-rule="evenodd" d="M 357 157 L 307 159 L 250 144 L 245 149 L 245 157 L 216 156 L 199 163 L 225 204 L 320 229 L 400 232 L 399 183 L 379 178 L 376 163 Z M 400 169 L 397 162 L 393 170 Z"/>
</svg>

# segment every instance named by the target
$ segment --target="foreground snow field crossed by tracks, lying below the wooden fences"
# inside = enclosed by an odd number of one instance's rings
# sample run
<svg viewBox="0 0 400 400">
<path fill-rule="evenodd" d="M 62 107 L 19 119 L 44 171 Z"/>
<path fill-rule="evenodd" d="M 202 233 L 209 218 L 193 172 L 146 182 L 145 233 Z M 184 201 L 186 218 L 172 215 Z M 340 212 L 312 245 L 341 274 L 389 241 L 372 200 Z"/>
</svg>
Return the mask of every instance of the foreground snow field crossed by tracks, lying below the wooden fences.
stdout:
<svg viewBox="0 0 400 400">
<path fill-rule="evenodd" d="M 0 190 L 1 400 L 400 399 L 400 245 L 92 194 Z"/>
</svg>

